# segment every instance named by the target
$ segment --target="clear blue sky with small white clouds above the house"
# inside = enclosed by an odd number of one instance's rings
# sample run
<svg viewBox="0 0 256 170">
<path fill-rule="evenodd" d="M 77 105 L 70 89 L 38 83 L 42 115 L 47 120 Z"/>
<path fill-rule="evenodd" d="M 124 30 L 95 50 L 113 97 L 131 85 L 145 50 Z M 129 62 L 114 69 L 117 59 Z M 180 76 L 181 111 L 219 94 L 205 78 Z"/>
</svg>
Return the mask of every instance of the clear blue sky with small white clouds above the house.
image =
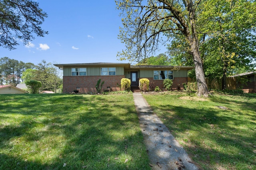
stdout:
<svg viewBox="0 0 256 170">
<path fill-rule="evenodd" d="M 15 50 L 0 47 L 0 57 L 24 63 L 128 63 L 116 54 L 124 49 L 118 39 L 122 26 L 114 0 L 37 0 L 48 14 L 42 28 L 49 32 Z"/>
</svg>

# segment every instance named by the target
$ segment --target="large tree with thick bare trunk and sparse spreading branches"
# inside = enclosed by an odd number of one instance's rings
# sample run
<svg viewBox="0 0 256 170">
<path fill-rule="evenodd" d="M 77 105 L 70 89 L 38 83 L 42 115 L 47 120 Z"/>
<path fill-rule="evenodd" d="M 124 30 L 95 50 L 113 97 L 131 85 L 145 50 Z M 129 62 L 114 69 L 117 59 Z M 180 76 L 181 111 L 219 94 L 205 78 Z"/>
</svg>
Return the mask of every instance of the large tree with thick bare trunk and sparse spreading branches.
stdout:
<svg viewBox="0 0 256 170">
<path fill-rule="evenodd" d="M 122 10 L 123 27 L 119 39 L 126 49 L 120 59 L 140 61 L 169 42 L 173 34 L 184 35 L 193 58 L 198 84 L 198 96 L 210 94 L 200 57 L 196 12 L 201 0 L 116 0 Z M 168 36 L 164 36 L 168 35 Z"/>
</svg>

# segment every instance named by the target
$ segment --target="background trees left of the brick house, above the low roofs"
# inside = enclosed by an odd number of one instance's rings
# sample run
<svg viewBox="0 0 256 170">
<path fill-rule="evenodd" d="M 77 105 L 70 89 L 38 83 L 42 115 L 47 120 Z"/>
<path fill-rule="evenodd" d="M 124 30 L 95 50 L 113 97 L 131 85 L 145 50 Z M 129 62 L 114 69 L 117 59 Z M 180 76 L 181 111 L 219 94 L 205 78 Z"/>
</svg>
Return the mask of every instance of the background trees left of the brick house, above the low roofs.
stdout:
<svg viewBox="0 0 256 170">
<path fill-rule="evenodd" d="M 8 57 L 0 59 L 0 83 L 16 86 L 18 83 L 26 83 L 30 80 L 40 81 L 40 90 L 55 91 L 60 89 L 62 79 L 60 73 L 52 65 L 43 60 L 38 65 L 24 63 Z"/>
</svg>

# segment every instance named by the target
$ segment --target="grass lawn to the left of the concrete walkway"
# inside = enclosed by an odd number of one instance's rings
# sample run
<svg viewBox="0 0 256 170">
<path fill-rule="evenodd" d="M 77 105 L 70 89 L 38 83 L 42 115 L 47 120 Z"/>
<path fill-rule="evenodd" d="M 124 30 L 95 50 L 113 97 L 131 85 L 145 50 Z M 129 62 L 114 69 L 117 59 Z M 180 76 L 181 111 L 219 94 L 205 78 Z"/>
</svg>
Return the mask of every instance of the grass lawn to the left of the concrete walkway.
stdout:
<svg viewBox="0 0 256 170">
<path fill-rule="evenodd" d="M 0 169 L 150 169 L 132 94 L 0 95 Z"/>
</svg>

